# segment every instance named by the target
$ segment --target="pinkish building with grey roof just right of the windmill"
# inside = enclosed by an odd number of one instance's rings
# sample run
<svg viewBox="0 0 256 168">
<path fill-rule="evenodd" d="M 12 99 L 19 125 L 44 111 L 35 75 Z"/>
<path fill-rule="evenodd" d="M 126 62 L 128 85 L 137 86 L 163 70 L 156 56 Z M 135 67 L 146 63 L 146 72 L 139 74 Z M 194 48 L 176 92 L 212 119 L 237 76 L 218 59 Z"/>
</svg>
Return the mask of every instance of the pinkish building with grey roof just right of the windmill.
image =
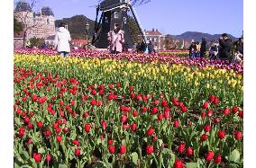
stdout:
<svg viewBox="0 0 256 168">
<path fill-rule="evenodd" d="M 152 29 L 152 31 L 145 31 L 146 40 L 158 46 L 158 49 L 165 49 L 164 40 L 165 36 L 160 31 Z"/>
</svg>

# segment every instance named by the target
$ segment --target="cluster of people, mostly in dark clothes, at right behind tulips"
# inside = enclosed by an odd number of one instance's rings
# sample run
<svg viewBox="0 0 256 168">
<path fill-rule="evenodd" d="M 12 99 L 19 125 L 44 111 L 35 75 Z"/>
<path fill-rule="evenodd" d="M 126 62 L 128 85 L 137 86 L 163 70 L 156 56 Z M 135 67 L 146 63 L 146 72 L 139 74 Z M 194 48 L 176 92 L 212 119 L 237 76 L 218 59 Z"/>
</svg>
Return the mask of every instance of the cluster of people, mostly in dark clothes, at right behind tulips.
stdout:
<svg viewBox="0 0 256 168">
<path fill-rule="evenodd" d="M 206 38 L 202 38 L 201 44 L 199 42 L 192 41 L 189 47 L 189 57 L 206 57 L 207 49 Z M 243 39 L 232 41 L 228 38 L 226 33 L 222 34 L 218 42 L 212 40 L 208 49 L 210 59 L 223 59 L 242 61 L 243 59 Z"/>
</svg>

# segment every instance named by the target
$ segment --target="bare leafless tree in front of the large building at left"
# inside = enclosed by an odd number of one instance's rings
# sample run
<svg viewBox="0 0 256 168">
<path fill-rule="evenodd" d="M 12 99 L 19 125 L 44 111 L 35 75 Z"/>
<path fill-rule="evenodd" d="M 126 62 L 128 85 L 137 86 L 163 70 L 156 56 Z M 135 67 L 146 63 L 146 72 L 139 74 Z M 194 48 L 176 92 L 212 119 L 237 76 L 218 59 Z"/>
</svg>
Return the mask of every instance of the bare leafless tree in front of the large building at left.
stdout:
<svg viewBox="0 0 256 168">
<path fill-rule="evenodd" d="M 35 6 L 38 4 L 38 2 L 38 0 L 31 0 L 30 3 L 28 3 L 31 10 L 14 14 L 15 18 L 23 23 L 23 48 L 26 46 L 28 32 L 32 31 L 36 27 L 41 26 L 40 22 L 34 20 L 33 18 L 33 10 L 35 9 Z"/>
</svg>

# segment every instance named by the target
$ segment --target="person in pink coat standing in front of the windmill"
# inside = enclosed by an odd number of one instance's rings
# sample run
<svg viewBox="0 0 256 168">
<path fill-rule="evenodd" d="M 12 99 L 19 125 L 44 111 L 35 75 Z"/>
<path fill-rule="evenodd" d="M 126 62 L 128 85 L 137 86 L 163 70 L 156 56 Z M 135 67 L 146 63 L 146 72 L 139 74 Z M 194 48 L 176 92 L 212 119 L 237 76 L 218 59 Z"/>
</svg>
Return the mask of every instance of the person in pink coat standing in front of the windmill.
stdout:
<svg viewBox="0 0 256 168">
<path fill-rule="evenodd" d="M 120 25 L 114 25 L 114 31 L 108 32 L 109 49 L 112 54 L 119 54 L 123 51 L 123 34 L 124 31 L 120 29 Z"/>
</svg>

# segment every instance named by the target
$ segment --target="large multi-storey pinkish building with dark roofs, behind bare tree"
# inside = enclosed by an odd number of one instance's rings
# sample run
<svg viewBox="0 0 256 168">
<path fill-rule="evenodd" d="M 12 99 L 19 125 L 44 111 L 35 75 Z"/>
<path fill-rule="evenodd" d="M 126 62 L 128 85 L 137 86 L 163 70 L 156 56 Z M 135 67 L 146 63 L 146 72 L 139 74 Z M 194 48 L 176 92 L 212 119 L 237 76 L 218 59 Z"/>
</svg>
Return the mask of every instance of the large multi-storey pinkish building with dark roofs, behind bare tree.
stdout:
<svg viewBox="0 0 256 168">
<path fill-rule="evenodd" d="M 42 7 L 41 12 L 34 13 L 30 4 L 21 0 L 15 7 L 14 17 L 23 22 L 27 40 L 33 37 L 46 39 L 55 34 L 55 18 L 50 7 Z"/>
</svg>

